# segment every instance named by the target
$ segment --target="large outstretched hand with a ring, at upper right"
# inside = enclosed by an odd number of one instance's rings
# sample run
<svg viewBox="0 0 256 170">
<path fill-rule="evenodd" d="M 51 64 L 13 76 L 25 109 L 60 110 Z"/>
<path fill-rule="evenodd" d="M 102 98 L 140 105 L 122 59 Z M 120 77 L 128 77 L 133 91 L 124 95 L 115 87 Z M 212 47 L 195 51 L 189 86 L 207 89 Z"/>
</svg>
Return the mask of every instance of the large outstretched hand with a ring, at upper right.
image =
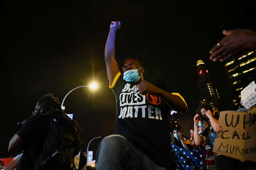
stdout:
<svg viewBox="0 0 256 170">
<path fill-rule="evenodd" d="M 223 30 L 225 36 L 211 50 L 210 60 L 225 61 L 247 48 L 256 48 L 256 33 L 249 29 Z"/>
</svg>

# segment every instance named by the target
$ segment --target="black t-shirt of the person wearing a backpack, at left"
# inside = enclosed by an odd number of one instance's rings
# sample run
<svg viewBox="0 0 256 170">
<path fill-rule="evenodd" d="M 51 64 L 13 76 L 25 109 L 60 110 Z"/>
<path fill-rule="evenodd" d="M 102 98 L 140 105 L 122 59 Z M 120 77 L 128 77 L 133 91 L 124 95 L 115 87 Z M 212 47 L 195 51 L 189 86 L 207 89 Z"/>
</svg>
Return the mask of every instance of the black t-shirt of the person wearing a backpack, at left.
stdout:
<svg viewBox="0 0 256 170">
<path fill-rule="evenodd" d="M 28 149 L 31 151 L 34 158 L 41 154 L 49 126 L 50 121 L 45 116 L 38 114 L 28 118 L 24 125 L 18 130 L 16 134 L 26 140 L 23 148 L 24 153 L 18 164 L 18 170 L 33 169 L 33 161 Z"/>
</svg>

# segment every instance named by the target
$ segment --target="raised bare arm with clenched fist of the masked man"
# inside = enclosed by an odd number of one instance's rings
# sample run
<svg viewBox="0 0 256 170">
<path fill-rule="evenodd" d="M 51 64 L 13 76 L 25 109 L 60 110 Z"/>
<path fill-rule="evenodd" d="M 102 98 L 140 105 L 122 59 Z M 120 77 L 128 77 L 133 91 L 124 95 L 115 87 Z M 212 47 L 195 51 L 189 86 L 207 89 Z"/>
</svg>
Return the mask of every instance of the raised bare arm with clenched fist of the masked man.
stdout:
<svg viewBox="0 0 256 170">
<path fill-rule="evenodd" d="M 110 84 L 113 83 L 116 74 L 120 71 L 115 59 L 116 31 L 121 27 L 119 21 L 112 21 L 105 46 L 105 64 Z"/>
</svg>

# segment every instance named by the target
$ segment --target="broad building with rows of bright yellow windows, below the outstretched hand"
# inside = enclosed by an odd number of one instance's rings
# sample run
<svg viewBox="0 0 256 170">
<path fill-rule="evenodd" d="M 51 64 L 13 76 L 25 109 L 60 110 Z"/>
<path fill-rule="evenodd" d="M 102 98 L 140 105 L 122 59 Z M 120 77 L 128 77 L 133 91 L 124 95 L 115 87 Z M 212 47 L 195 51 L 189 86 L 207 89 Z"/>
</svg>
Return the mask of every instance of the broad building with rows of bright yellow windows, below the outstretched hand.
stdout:
<svg viewBox="0 0 256 170">
<path fill-rule="evenodd" d="M 243 53 L 225 63 L 225 69 L 233 89 L 232 103 L 239 108 L 241 91 L 256 80 L 256 50 Z"/>
</svg>

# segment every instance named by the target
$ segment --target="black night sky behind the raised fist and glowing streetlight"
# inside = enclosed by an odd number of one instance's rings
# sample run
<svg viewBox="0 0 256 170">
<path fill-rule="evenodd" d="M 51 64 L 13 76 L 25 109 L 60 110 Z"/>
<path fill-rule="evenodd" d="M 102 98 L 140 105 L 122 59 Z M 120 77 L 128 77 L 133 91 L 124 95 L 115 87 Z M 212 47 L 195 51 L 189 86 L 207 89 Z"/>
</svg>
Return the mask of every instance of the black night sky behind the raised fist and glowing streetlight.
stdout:
<svg viewBox="0 0 256 170">
<path fill-rule="evenodd" d="M 104 62 L 112 20 L 121 22 L 115 45 L 120 69 L 126 58 L 139 58 L 144 78 L 168 80 L 188 104 L 188 112 L 179 115 L 181 128 L 192 129 L 200 99 L 196 61 L 205 62 L 220 97 L 230 102 L 223 63 L 210 61 L 209 51 L 224 36 L 220 26 L 250 2 L 1 1 L 0 153 L 9 155 L 17 122 L 31 115 L 42 95 L 53 93 L 61 103 L 71 89 L 93 80 L 99 84 L 95 93 L 76 89 L 65 100 L 65 112 L 84 129 L 86 146 L 93 137 L 114 134 L 116 100 Z M 241 21 L 252 18 L 243 12 L 223 28 L 246 27 Z"/>
</svg>

